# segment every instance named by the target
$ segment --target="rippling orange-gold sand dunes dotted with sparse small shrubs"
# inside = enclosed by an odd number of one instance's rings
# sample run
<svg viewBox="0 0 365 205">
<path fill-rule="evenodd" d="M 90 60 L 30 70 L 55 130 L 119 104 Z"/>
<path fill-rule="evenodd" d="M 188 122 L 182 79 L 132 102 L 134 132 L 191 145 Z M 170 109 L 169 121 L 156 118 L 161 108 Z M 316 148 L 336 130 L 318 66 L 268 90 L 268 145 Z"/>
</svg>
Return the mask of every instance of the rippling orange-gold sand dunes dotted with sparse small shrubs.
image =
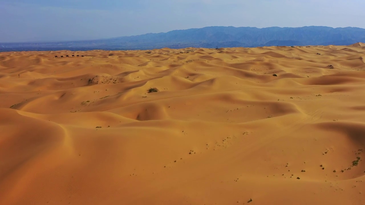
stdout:
<svg viewBox="0 0 365 205">
<path fill-rule="evenodd" d="M 1 205 L 365 204 L 362 43 L 0 61 Z"/>
</svg>

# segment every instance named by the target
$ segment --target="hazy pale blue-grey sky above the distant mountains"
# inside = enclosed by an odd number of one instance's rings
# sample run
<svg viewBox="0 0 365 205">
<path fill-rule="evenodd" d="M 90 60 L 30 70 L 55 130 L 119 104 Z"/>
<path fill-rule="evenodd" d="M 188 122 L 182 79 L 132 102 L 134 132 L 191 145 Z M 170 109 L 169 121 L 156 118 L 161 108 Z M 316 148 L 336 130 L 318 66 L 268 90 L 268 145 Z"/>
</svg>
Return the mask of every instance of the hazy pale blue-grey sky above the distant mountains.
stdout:
<svg viewBox="0 0 365 205">
<path fill-rule="evenodd" d="M 364 0 L 0 0 L 0 42 L 89 40 L 206 26 L 360 27 Z"/>
</svg>

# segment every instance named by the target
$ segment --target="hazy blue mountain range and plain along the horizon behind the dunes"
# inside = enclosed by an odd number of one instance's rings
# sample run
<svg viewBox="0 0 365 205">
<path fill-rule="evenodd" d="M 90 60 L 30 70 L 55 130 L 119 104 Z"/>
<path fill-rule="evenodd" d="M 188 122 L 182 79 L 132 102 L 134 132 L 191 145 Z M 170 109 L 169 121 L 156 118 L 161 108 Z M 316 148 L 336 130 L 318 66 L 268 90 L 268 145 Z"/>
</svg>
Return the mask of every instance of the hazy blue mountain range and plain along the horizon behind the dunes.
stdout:
<svg viewBox="0 0 365 205">
<path fill-rule="evenodd" d="M 23 50 L 149 50 L 164 47 L 259 47 L 350 45 L 365 42 L 365 29 L 356 27 L 223 27 L 174 30 L 166 33 L 123 36 L 99 40 L 39 43 L 0 43 L 0 51 Z"/>
</svg>

